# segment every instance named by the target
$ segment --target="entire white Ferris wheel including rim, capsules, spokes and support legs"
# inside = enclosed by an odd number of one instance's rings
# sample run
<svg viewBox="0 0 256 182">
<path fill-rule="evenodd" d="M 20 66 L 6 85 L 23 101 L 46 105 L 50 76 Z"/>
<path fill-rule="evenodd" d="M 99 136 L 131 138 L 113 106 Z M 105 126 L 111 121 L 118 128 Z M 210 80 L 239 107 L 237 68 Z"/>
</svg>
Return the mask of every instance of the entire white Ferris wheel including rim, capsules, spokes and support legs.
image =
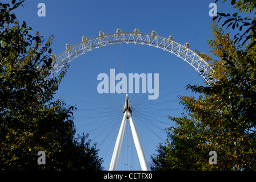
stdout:
<svg viewBox="0 0 256 182">
<path fill-rule="evenodd" d="M 57 97 L 77 107 L 77 132 L 97 142 L 109 170 L 148 170 L 150 156 L 165 142 L 165 128 L 173 126 L 168 116 L 184 112 L 177 96 L 192 95 L 185 86 L 205 84 L 199 73 L 210 69 L 189 43 L 138 28 L 82 36 L 51 59 L 51 77 L 69 67 Z"/>
</svg>

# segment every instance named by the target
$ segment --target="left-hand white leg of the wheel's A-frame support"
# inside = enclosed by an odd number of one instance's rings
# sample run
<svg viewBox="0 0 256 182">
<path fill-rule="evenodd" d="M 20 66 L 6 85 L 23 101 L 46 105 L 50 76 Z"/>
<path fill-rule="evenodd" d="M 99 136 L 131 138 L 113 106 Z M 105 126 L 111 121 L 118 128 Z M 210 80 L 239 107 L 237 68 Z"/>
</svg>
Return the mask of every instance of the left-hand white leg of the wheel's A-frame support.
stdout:
<svg viewBox="0 0 256 182">
<path fill-rule="evenodd" d="M 119 158 L 119 154 L 120 154 L 122 142 L 123 142 L 123 134 L 125 133 L 125 123 L 126 123 L 126 112 L 123 113 L 123 120 L 119 129 L 119 133 L 117 135 L 117 141 L 115 142 L 115 148 L 114 148 L 113 156 L 111 159 L 109 171 L 115 171 L 117 169 L 118 158 Z"/>
</svg>

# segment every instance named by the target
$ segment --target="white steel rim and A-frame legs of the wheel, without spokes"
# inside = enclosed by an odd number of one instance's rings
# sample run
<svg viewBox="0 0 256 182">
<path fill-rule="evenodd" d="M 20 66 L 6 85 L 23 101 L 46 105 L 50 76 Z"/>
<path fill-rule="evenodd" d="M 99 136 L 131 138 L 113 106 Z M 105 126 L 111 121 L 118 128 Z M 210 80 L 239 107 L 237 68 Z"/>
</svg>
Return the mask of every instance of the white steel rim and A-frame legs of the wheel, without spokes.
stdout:
<svg viewBox="0 0 256 182">
<path fill-rule="evenodd" d="M 202 57 L 189 49 L 189 43 L 186 43 L 184 46 L 182 46 L 181 44 L 174 42 L 172 35 L 170 35 L 169 38 L 163 38 L 158 36 L 157 32 L 155 31 L 152 31 L 151 34 L 145 34 L 139 32 L 138 28 L 135 28 L 134 32 L 122 32 L 121 29 L 118 28 L 117 31 L 112 34 L 104 34 L 103 31 L 100 31 L 99 36 L 90 39 L 87 39 L 86 36 L 82 36 L 82 42 L 75 44 L 74 46 L 71 46 L 67 43 L 66 50 L 58 56 L 51 54 L 51 59 L 53 60 L 53 69 L 50 71 L 51 76 L 57 76 L 58 72 L 61 72 L 61 70 L 65 68 L 67 64 L 69 64 L 73 59 L 79 57 L 80 55 L 83 55 L 89 51 L 93 51 L 96 48 L 114 44 L 142 44 L 157 47 L 163 49 L 163 51 L 170 52 L 177 57 L 181 57 L 181 59 L 189 63 L 189 65 L 191 65 L 195 71 L 203 71 L 206 73 L 210 69 L 209 64 L 203 60 Z M 135 127 L 132 109 L 129 104 L 129 97 L 127 94 L 125 98 L 125 106 L 123 106 L 123 119 L 117 140 L 115 142 L 109 170 L 113 171 L 117 169 L 117 163 L 121 151 L 127 119 L 129 119 L 131 133 L 133 135 L 139 163 L 141 164 L 142 170 L 147 171 L 149 168 L 147 167 L 141 141 L 139 140 L 137 129 Z"/>
</svg>

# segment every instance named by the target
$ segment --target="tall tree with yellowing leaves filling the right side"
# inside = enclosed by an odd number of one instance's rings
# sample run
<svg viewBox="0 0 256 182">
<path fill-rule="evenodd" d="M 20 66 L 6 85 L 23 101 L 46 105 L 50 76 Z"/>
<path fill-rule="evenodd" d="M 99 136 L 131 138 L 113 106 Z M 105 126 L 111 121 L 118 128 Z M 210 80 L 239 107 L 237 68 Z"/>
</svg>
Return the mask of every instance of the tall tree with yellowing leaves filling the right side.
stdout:
<svg viewBox="0 0 256 182">
<path fill-rule="evenodd" d="M 255 9 L 254 1 L 231 3 L 235 7 L 242 3 L 241 11 Z M 246 7 L 246 3 L 251 6 Z M 229 21 L 222 25 L 233 21 L 235 29 L 239 21 L 248 20 L 237 15 L 234 14 L 232 20 L 229 14 L 215 19 L 226 17 Z M 256 169 L 255 17 L 248 26 L 245 34 L 239 36 L 238 33 L 232 39 L 230 32 L 213 23 L 214 40 L 208 43 L 217 59 L 197 52 L 211 67 L 209 72 L 202 73 L 208 78 L 207 85 L 187 85 L 187 89 L 201 94 L 198 99 L 179 96 L 188 114 L 181 118 L 170 117 L 177 127 L 166 129 L 169 132 L 167 142 L 152 156 L 151 169 Z M 210 151 L 217 152 L 217 165 L 209 164 Z M 166 162 L 168 160 L 170 163 Z"/>
</svg>

